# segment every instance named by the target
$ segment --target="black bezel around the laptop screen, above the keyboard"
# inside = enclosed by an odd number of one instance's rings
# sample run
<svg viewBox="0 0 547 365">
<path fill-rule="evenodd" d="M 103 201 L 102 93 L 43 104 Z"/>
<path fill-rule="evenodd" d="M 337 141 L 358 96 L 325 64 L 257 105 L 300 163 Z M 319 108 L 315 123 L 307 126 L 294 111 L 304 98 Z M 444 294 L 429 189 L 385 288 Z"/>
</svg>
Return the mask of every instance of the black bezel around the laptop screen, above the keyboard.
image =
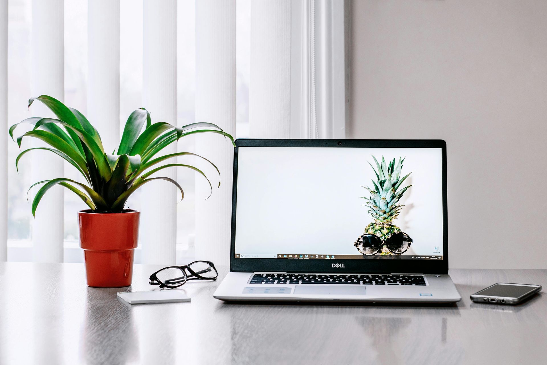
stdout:
<svg viewBox="0 0 547 365">
<path fill-rule="evenodd" d="M 276 271 L 290 273 L 371 273 L 371 274 L 447 274 L 448 273 L 448 218 L 446 198 L 446 142 L 444 140 L 273 140 L 242 138 L 235 141 L 234 179 L 232 185 L 232 224 L 230 271 Z M 325 147 L 325 148 L 440 148 L 443 175 L 443 259 L 277 259 L 235 258 L 237 157 L 240 147 Z M 344 268 L 333 268 L 333 263 L 344 263 Z"/>
</svg>

